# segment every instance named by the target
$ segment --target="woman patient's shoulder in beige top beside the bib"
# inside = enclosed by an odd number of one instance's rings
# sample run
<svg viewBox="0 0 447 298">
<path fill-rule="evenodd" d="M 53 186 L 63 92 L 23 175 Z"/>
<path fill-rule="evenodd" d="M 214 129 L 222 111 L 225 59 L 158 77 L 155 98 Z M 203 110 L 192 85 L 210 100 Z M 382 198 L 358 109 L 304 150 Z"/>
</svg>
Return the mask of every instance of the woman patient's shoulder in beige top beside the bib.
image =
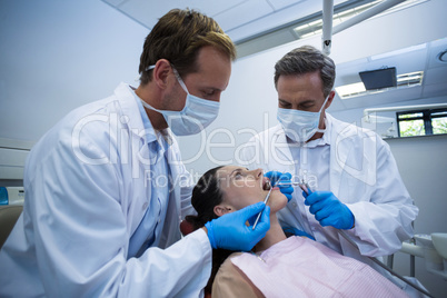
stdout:
<svg viewBox="0 0 447 298">
<path fill-rule="evenodd" d="M 212 298 L 216 297 L 265 297 L 250 279 L 239 270 L 231 258 L 244 252 L 235 252 L 220 266 L 212 284 Z"/>
</svg>

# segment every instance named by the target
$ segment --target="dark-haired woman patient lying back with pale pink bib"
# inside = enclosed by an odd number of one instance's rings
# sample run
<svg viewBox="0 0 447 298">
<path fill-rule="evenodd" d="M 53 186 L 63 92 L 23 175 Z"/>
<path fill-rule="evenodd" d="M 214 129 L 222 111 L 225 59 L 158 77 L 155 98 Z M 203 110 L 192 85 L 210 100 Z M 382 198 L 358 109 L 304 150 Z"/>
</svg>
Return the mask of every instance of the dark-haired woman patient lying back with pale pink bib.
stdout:
<svg viewBox="0 0 447 298">
<path fill-rule="evenodd" d="M 206 172 L 192 192 L 193 228 L 266 198 L 270 183 L 262 170 L 226 166 Z M 212 286 L 218 297 L 406 297 L 369 266 L 305 237 L 287 238 L 276 212 L 287 198 L 274 188 L 270 230 L 251 252 L 213 251 Z M 228 258 L 227 258 L 228 257 Z M 221 266 L 220 264 L 224 262 Z M 220 266 L 220 268 L 219 268 Z M 217 274 L 216 274 L 217 272 Z"/>
</svg>

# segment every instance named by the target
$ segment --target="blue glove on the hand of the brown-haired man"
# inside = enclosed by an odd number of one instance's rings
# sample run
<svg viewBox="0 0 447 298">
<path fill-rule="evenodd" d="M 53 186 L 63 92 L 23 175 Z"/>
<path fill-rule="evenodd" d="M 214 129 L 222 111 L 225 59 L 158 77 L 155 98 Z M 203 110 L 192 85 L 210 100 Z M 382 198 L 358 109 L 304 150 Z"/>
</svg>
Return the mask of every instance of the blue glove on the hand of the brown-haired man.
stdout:
<svg viewBox="0 0 447 298">
<path fill-rule="evenodd" d="M 255 230 L 252 230 L 252 226 L 247 226 L 246 222 L 254 217 L 256 218 L 260 211 L 262 211 L 262 215 Z M 205 227 L 208 229 L 208 238 L 211 247 L 213 249 L 251 250 L 270 229 L 269 216 L 270 207 L 260 201 L 208 221 L 205 224 Z M 250 220 L 250 222 L 252 221 Z"/>
</svg>

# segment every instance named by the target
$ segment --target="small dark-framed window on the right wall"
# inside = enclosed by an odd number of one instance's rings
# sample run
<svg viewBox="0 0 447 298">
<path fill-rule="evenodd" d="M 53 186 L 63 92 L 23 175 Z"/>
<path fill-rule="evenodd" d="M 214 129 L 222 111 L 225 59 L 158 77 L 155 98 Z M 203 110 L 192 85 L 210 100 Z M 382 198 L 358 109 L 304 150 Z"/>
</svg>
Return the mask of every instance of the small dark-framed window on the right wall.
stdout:
<svg viewBox="0 0 447 298">
<path fill-rule="evenodd" d="M 447 109 L 397 112 L 399 137 L 447 133 Z"/>
</svg>

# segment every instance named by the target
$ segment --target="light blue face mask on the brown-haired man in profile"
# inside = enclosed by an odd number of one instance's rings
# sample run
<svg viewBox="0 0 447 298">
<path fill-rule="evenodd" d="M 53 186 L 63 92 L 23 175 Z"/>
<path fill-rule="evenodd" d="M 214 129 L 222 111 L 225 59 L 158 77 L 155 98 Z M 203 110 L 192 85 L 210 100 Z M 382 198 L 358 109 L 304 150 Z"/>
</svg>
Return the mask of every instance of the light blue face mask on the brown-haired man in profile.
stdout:
<svg viewBox="0 0 447 298">
<path fill-rule="evenodd" d="M 147 70 L 155 68 L 150 66 Z M 158 111 L 165 117 L 166 122 L 176 136 L 195 135 L 208 127 L 219 115 L 219 102 L 201 99 L 188 92 L 188 89 L 177 70 L 172 67 L 173 73 L 181 88 L 187 92 L 185 108 L 181 111 L 158 110 L 141 100 L 142 106 Z"/>
</svg>

